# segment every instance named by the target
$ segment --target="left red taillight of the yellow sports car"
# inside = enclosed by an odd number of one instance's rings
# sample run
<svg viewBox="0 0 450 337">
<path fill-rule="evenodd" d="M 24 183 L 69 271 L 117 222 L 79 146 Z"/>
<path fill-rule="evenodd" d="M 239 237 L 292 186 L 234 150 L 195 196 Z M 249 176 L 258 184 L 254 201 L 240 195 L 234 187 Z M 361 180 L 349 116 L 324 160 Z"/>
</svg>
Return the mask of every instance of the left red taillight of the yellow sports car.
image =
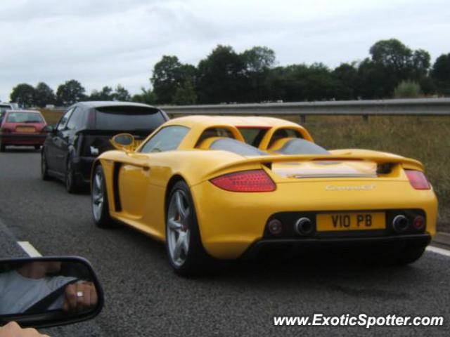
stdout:
<svg viewBox="0 0 450 337">
<path fill-rule="evenodd" d="M 264 170 L 240 171 L 210 180 L 222 190 L 231 192 L 271 192 L 275 183 Z"/>
</svg>

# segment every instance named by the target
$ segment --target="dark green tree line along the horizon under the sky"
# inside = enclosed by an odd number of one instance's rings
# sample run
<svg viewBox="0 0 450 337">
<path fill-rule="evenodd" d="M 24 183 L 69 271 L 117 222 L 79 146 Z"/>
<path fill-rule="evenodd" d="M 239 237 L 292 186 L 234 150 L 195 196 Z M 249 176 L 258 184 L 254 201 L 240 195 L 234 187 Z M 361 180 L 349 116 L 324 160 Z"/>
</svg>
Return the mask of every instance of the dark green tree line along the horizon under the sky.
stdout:
<svg viewBox="0 0 450 337">
<path fill-rule="evenodd" d="M 176 55 L 162 56 L 153 67 L 152 89 L 142 88 L 133 96 L 120 85 L 86 95 L 83 86 L 72 79 L 58 86 L 56 94 L 42 82 L 35 88 L 19 84 L 11 100 L 41 107 L 80 100 L 189 105 L 450 95 L 450 53 L 440 55 L 431 65 L 428 51 L 387 39 L 373 44 L 369 55 L 334 69 L 320 62 L 279 66 L 275 52 L 265 46 L 236 53 L 231 46 L 219 45 L 197 66 L 180 62 Z"/>
</svg>

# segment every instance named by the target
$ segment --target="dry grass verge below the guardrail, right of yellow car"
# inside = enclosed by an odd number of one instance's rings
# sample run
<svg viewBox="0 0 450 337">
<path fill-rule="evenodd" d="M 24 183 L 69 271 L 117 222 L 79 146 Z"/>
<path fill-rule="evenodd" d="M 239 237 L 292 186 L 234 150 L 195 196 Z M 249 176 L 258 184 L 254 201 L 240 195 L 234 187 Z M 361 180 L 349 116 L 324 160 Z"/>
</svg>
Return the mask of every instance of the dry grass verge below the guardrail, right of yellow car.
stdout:
<svg viewBox="0 0 450 337">
<path fill-rule="evenodd" d="M 288 117 L 300 123 L 300 118 Z M 439 200 L 439 229 L 450 224 L 449 117 L 307 117 L 302 124 L 327 149 L 392 152 L 422 161 Z"/>
</svg>

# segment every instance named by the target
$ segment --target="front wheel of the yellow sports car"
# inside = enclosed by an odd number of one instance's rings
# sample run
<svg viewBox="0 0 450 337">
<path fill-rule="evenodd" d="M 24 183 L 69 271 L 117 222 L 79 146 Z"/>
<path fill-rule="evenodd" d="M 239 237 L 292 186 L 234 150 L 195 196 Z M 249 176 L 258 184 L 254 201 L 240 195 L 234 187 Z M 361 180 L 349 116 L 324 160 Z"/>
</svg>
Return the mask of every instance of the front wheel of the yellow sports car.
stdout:
<svg viewBox="0 0 450 337">
<path fill-rule="evenodd" d="M 101 165 L 96 166 L 91 185 L 91 209 L 94 223 L 101 228 L 113 227 L 106 193 L 105 174 Z"/>
</svg>

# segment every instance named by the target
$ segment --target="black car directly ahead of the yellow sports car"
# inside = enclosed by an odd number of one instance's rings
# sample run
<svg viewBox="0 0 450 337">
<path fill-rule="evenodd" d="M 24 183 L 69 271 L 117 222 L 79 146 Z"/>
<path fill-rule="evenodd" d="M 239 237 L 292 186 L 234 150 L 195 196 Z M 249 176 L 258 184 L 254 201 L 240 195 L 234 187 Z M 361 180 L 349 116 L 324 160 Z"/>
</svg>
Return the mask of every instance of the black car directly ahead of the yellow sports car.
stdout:
<svg viewBox="0 0 450 337">
<path fill-rule="evenodd" d="M 68 192 L 89 184 L 94 159 L 113 149 L 110 138 L 131 133 L 143 140 L 169 118 L 150 105 L 128 102 L 80 102 L 69 107 L 55 127 L 47 126 L 41 177 L 65 181 Z"/>
</svg>

